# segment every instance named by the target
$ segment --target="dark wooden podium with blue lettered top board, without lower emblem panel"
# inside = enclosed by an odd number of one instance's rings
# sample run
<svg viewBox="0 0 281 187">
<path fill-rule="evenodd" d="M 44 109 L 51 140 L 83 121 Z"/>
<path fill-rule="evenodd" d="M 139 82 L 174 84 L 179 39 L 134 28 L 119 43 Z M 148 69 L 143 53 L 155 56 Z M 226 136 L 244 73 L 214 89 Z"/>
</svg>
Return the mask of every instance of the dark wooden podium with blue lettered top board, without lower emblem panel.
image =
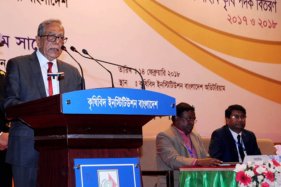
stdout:
<svg viewBox="0 0 281 187">
<path fill-rule="evenodd" d="M 6 108 L 8 119 L 34 129 L 37 186 L 60 187 L 76 186 L 75 158 L 139 157 L 142 126 L 168 115 L 176 115 L 175 98 L 126 88 L 60 93 Z"/>
</svg>

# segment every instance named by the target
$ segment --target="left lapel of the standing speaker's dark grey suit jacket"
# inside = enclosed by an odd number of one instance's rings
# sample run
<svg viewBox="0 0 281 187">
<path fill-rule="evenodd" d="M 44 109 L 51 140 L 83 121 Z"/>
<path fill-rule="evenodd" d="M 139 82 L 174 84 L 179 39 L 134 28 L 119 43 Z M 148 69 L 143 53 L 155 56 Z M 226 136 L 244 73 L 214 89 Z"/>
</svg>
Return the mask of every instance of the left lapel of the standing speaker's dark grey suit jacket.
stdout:
<svg viewBox="0 0 281 187">
<path fill-rule="evenodd" d="M 41 71 L 41 67 L 40 67 L 40 64 L 39 64 L 39 60 L 38 60 L 37 55 L 36 55 L 36 51 L 34 51 L 30 55 L 30 59 L 31 60 L 29 62 L 29 65 L 30 65 L 32 73 L 34 75 L 34 79 L 35 79 L 37 87 L 39 89 L 39 93 L 40 93 L 42 98 L 47 97 L 45 84 L 44 84 L 44 80 L 43 80 L 43 76 L 42 76 L 42 71 Z"/>
</svg>

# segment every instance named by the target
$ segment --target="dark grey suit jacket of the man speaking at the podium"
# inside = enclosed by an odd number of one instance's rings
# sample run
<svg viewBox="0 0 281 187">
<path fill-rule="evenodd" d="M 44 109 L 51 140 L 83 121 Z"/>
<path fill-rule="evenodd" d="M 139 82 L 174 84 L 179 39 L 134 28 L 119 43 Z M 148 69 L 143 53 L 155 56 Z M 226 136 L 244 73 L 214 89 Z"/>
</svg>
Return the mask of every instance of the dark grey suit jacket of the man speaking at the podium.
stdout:
<svg viewBox="0 0 281 187">
<path fill-rule="evenodd" d="M 60 80 L 60 93 L 81 89 L 81 76 L 77 68 L 61 60 L 57 60 L 57 67 L 59 72 L 65 73 Z M 8 60 L 1 92 L 2 110 L 43 97 L 47 94 L 36 51 Z M 34 149 L 33 138 L 32 128 L 19 121 L 12 122 L 6 161 L 23 167 L 37 167 L 39 152 Z"/>
</svg>

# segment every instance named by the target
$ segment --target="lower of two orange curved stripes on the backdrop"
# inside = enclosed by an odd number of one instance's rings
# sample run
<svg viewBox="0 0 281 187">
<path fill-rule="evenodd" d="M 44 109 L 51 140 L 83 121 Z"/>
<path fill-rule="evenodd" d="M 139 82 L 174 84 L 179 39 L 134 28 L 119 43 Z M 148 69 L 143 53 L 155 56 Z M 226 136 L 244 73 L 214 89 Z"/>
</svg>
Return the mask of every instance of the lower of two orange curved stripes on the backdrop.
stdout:
<svg viewBox="0 0 281 187">
<path fill-rule="evenodd" d="M 210 53 L 165 25 L 136 1 L 124 1 L 156 32 L 199 64 L 241 88 L 281 104 L 280 81 L 251 72 Z"/>
</svg>

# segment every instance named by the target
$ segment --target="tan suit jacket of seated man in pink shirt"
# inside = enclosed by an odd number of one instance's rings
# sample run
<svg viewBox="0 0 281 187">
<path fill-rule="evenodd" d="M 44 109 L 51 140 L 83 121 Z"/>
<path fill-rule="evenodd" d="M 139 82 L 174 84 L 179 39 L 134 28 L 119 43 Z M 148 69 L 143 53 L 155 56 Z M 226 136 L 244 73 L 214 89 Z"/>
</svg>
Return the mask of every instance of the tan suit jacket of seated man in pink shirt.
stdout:
<svg viewBox="0 0 281 187">
<path fill-rule="evenodd" d="M 192 132 L 190 140 L 198 158 L 210 158 L 197 132 Z M 157 169 L 174 170 L 174 185 L 175 187 L 179 186 L 179 169 L 181 167 L 189 167 L 195 159 L 189 157 L 189 151 L 186 148 L 185 142 L 174 126 L 170 126 L 157 135 L 156 151 Z M 157 187 L 164 186 L 166 186 L 166 177 L 159 176 Z"/>
</svg>

